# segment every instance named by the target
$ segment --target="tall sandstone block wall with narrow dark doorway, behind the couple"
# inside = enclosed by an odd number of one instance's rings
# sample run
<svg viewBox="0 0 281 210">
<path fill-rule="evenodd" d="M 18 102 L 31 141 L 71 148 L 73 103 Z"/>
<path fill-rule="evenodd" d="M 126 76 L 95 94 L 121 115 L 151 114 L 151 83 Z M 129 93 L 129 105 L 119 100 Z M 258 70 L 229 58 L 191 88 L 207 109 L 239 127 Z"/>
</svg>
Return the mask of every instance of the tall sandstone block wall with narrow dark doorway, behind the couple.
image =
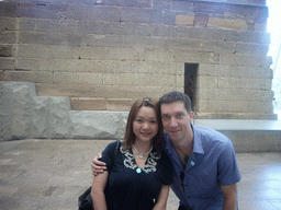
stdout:
<svg viewBox="0 0 281 210">
<path fill-rule="evenodd" d="M 198 118 L 274 119 L 265 0 L 0 2 L 0 80 L 34 82 L 74 109 L 127 110 L 183 91 Z"/>
</svg>

